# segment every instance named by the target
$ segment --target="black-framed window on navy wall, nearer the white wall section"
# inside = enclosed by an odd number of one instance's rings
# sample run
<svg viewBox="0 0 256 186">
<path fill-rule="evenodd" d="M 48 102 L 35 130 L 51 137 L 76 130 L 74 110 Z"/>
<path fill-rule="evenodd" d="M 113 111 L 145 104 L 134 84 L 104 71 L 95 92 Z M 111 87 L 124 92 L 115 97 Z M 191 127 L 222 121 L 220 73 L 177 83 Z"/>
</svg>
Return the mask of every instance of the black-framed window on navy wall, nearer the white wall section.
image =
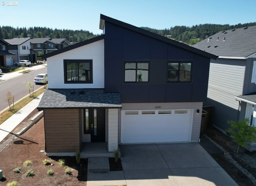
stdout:
<svg viewBox="0 0 256 186">
<path fill-rule="evenodd" d="M 148 82 L 148 62 L 129 62 L 124 64 L 124 82 Z"/>
</svg>

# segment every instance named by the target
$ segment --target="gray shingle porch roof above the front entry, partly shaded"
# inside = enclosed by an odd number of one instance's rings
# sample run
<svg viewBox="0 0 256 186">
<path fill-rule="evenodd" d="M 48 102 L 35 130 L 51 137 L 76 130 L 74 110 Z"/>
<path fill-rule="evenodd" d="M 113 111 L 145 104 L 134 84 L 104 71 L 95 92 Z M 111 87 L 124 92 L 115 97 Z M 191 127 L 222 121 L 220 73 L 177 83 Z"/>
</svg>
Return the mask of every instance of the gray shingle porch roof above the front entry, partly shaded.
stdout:
<svg viewBox="0 0 256 186">
<path fill-rule="evenodd" d="M 47 89 L 38 105 L 38 109 L 121 107 L 120 94 L 104 89 Z"/>
</svg>

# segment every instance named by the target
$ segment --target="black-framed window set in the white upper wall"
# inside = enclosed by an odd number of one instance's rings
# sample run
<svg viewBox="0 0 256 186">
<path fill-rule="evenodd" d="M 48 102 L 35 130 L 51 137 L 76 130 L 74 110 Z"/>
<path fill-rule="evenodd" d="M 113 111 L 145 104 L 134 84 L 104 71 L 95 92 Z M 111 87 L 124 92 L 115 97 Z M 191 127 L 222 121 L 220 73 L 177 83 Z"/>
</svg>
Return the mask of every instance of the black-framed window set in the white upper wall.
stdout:
<svg viewBox="0 0 256 186">
<path fill-rule="evenodd" d="M 65 83 L 92 83 L 92 60 L 64 60 Z"/>
</svg>

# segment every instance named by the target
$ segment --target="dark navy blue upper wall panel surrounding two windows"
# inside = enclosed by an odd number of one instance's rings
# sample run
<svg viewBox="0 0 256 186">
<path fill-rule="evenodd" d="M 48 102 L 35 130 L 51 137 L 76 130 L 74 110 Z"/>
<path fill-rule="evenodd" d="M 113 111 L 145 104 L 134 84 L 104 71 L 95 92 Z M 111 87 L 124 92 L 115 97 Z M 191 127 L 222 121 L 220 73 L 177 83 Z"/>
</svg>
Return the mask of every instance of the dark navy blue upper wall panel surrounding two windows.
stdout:
<svg viewBox="0 0 256 186">
<path fill-rule="evenodd" d="M 210 58 L 105 22 L 105 90 L 122 103 L 203 102 Z M 125 62 L 149 62 L 148 82 L 124 82 Z M 191 82 L 167 82 L 168 62 L 192 63 Z"/>
</svg>

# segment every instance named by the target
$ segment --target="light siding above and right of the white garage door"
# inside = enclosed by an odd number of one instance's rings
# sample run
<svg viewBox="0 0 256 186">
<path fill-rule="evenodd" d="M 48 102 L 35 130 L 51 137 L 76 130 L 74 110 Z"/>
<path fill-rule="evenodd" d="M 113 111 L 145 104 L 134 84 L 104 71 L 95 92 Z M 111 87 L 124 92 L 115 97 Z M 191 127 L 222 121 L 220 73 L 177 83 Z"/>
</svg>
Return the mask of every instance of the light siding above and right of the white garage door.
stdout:
<svg viewBox="0 0 256 186">
<path fill-rule="evenodd" d="M 169 109 L 193 109 L 193 121 L 191 129 L 191 142 L 198 142 L 202 117 L 202 102 L 185 103 L 122 103 L 122 110 L 169 110 Z M 161 107 L 161 108 L 159 108 Z M 199 109 L 200 113 L 196 110 Z"/>
</svg>

